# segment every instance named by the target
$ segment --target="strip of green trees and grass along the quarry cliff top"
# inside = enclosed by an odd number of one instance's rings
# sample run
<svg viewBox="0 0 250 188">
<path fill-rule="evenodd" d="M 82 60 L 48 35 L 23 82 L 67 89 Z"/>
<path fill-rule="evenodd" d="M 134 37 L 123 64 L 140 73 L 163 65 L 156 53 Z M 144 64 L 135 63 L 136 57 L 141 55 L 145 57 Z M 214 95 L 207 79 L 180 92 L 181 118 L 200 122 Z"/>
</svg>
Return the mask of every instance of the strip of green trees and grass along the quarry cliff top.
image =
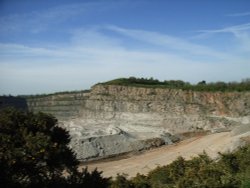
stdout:
<svg viewBox="0 0 250 188">
<path fill-rule="evenodd" d="M 119 78 L 111 80 L 103 85 L 123 85 L 134 87 L 149 87 L 149 88 L 170 88 L 170 89 L 182 89 L 192 91 L 250 91 L 250 79 L 244 79 L 241 82 L 216 82 L 206 83 L 201 81 L 197 84 L 190 84 L 181 80 L 165 80 L 163 82 L 153 78 Z"/>
</svg>

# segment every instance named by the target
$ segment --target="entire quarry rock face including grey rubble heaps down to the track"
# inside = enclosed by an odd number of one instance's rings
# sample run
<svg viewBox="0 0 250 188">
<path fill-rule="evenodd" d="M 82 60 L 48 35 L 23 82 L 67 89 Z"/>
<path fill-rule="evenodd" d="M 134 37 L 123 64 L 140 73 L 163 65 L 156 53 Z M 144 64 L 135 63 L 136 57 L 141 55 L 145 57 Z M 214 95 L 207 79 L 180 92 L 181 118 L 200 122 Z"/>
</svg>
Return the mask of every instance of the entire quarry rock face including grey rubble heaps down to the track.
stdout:
<svg viewBox="0 0 250 188">
<path fill-rule="evenodd" d="M 91 160 L 176 141 L 184 132 L 250 123 L 250 92 L 95 85 L 88 92 L 27 98 L 70 131 L 79 159 Z"/>
</svg>

